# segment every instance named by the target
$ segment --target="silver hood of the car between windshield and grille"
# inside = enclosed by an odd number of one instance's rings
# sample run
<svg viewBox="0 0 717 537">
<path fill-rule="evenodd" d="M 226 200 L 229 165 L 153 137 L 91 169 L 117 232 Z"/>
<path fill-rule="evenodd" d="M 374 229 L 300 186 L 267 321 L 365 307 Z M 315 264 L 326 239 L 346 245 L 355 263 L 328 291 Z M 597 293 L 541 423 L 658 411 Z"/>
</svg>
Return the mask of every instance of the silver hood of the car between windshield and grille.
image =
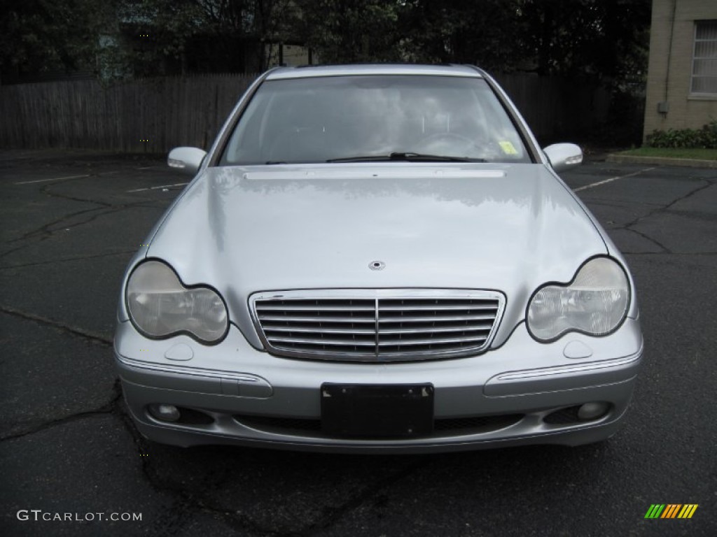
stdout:
<svg viewBox="0 0 717 537">
<path fill-rule="evenodd" d="M 214 286 L 244 334 L 256 291 L 501 291 L 495 346 L 538 286 L 570 281 L 601 253 L 586 210 L 544 165 L 361 163 L 208 168 L 170 208 L 147 256 L 185 284 Z M 374 261 L 384 268 L 371 270 Z"/>
</svg>

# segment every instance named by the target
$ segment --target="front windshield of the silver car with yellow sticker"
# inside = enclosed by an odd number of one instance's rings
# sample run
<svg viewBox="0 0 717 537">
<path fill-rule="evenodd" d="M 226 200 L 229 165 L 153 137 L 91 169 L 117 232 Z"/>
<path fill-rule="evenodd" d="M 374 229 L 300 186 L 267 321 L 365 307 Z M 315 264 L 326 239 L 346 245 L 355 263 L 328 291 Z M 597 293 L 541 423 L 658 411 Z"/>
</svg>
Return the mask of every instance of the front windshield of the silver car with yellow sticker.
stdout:
<svg viewBox="0 0 717 537">
<path fill-rule="evenodd" d="M 397 159 L 531 161 L 483 79 L 354 75 L 267 80 L 220 164 Z"/>
</svg>

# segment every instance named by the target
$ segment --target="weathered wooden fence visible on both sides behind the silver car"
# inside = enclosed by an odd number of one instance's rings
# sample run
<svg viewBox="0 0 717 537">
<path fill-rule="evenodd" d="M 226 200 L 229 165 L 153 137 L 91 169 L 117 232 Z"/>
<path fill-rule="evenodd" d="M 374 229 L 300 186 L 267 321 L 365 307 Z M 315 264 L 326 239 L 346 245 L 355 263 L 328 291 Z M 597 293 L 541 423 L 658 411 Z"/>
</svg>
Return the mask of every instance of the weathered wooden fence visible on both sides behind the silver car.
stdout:
<svg viewBox="0 0 717 537">
<path fill-rule="evenodd" d="M 166 153 L 208 148 L 255 75 L 0 86 L 0 147 L 85 147 Z M 604 89 L 530 74 L 498 75 L 541 143 L 584 138 L 607 115 Z"/>
</svg>

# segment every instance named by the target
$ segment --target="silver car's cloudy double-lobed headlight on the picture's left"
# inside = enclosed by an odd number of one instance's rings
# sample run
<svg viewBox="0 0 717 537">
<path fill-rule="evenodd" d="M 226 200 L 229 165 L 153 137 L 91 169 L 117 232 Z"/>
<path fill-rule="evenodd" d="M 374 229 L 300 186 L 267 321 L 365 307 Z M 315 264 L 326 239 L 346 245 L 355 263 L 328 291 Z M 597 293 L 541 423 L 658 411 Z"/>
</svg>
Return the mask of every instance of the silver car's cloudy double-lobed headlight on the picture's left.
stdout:
<svg viewBox="0 0 717 537">
<path fill-rule="evenodd" d="M 201 342 L 214 343 L 227 332 L 222 297 L 209 287 L 185 287 L 160 261 L 146 261 L 133 271 L 126 296 L 130 319 L 149 337 L 188 332 Z"/>
</svg>

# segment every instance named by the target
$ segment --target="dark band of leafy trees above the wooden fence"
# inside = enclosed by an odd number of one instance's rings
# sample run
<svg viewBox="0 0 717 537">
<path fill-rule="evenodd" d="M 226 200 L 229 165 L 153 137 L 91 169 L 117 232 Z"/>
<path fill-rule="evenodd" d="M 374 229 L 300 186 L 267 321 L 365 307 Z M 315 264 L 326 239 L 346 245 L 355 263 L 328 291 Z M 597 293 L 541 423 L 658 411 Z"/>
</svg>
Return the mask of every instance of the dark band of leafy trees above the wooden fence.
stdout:
<svg viewBox="0 0 717 537">
<path fill-rule="evenodd" d="M 642 82 L 650 0 L 3 1 L 0 69 L 105 77 L 264 70 L 267 49 L 321 62 L 455 62 Z"/>
</svg>

